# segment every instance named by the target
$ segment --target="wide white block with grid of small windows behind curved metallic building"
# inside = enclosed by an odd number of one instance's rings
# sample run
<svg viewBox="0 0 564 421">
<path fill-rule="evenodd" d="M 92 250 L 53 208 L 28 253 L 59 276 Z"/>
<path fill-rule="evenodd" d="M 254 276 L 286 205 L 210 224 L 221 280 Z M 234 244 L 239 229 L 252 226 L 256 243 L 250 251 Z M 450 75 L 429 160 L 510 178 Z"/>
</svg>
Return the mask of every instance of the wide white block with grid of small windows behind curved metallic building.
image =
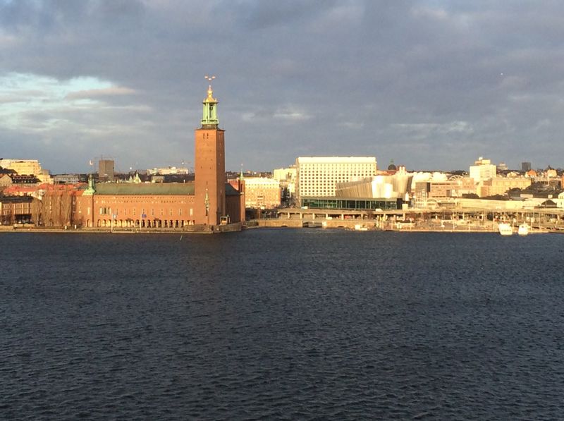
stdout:
<svg viewBox="0 0 564 421">
<path fill-rule="evenodd" d="M 337 183 L 376 175 L 375 157 L 299 157 L 296 200 L 302 197 L 334 197 Z"/>
</svg>

